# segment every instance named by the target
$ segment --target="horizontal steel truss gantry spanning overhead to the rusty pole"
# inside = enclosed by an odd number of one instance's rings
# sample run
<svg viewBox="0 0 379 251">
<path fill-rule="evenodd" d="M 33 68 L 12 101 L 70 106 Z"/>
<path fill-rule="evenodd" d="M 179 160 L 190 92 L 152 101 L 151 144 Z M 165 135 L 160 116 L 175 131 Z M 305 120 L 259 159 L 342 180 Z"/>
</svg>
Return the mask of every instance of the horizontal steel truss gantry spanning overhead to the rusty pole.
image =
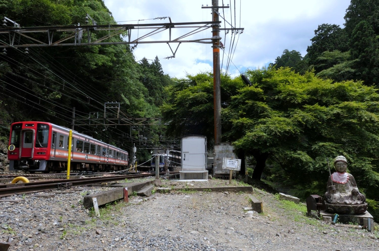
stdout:
<svg viewBox="0 0 379 251">
<path fill-rule="evenodd" d="M 92 19 L 91 19 L 92 20 Z M 212 37 L 189 39 L 185 38 L 196 33 L 211 29 L 212 26 L 219 25 L 218 22 L 184 22 L 172 23 L 138 23 L 138 24 L 117 24 L 109 23 L 107 25 L 54 25 L 54 26 L 36 26 L 20 27 L 18 23 L 4 17 L 3 27 L 0 28 L 0 34 L 7 37 L 6 41 L 0 39 L 0 48 L 20 48 L 20 47 L 45 47 L 45 46 L 78 46 L 78 45 L 117 45 L 117 44 L 138 44 L 138 43 L 212 43 Z M 172 37 L 172 29 L 186 29 L 186 32 L 180 36 Z M 92 33 L 105 31 L 107 34 L 92 40 Z M 136 36 L 132 38 L 132 31 Z M 146 32 L 145 32 L 146 31 Z M 148 40 L 155 34 L 168 31 L 167 40 Z M 134 34 L 133 33 L 133 34 Z M 38 34 L 35 36 L 34 34 Z M 86 34 L 86 35 L 85 35 Z M 121 34 L 124 41 L 121 42 L 102 42 L 105 39 Z M 210 33 L 211 34 L 211 33 Z M 34 37 L 33 37 L 34 35 Z M 41 36 L 42 35 L 42 36 Z M 34 43 L 24 43 L 16 39 L 17 36 L 26 37 Z M 83 39 L 83 36 L 85 39 Z M 41 39 L 41 37 L 43 39 Z M 9 40 L 8 40 L 9 39 Z M 66 42 L 69 40 L 70 42 Z M 16 42 L 17 41 L 17 42 Z M 179 46 L 179 45 L 178 45 Z"/>
</svg>

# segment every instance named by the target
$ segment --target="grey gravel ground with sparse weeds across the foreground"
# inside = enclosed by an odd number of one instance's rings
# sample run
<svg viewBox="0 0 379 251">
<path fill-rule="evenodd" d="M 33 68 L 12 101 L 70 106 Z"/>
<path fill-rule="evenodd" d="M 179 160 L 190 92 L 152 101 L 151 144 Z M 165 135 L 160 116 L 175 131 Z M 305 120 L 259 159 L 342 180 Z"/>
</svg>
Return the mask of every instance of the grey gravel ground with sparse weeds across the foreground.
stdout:
<svg viewBox="0 0 379 251">
<path fill-rule="evenodd" d="M 146 180 L 146 179 L 142 179 Z M 137 180 L 133 180 L 137 181 Z M 210 180 L 201 186 L 229 186 Z M 234 181 L 241 185 L 240 182 Z M 200 186 L 164 181 L 164 186 Z M 17 195 L 0 202 L 0 241 L 9 250 L 379 250 L 377 232 L 336 227 L 304 216 L 294 204 L 254 188 L 264 212 L 245 212 L 243 193 L 172 192 L 129 203 L 112 203 L 101 216 L 83 208 L 86 194 L 107 187 L 83 187 L 53 198 Z M 38 193 L 44 195 L 51 193 Z M 306 210 L 306 209 L 305 209 Z"/>
</svg>

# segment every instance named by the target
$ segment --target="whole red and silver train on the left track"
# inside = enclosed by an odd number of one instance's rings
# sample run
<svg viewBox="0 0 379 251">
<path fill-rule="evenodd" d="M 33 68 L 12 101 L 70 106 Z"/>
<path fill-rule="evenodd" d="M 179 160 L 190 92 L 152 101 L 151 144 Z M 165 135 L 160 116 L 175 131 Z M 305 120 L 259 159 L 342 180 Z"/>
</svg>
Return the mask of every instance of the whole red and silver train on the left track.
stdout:
<svg viewBox="0 0 379 251">
<path fill-rule="evenodd" d="M 61 172 L 67 170 L 70 129 L 49 122 L 11 125 L 9 170 Z M 128 152 L 72 131 L 70 170 L 110 171 L 128 166 Z"/>
</svg>

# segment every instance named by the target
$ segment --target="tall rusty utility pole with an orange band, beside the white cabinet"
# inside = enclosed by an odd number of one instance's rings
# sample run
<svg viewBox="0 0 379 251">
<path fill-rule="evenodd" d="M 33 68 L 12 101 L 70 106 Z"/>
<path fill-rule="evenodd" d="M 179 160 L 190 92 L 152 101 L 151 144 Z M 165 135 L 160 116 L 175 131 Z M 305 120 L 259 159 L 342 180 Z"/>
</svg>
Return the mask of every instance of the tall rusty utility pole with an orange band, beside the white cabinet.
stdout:
<svg viewBox="0 0 379 251">
<path fill-rule="evenodd" d="M 218 6 L 218 0 L 212 0 L 212 7 Z M 216 13 L 218 8 L 212 8 L 213 21 L 219 21 Z M 220 32 L 219 25 L 212 26 L 213 40 L 213 110 L 215 116 L 215 144 L 221 142 L 221 80 L 220 80 Z"/>
</svg>

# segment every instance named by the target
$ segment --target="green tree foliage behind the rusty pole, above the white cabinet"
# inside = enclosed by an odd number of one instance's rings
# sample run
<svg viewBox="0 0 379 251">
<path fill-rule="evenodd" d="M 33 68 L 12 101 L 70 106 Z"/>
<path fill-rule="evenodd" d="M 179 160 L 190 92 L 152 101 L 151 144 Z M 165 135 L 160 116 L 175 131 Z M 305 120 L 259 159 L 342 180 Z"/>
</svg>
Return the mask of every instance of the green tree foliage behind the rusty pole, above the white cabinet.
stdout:
<svg viewBox="0 0 379 251">
<path fill-rule="evenodd" d="M 166 87 L 167 101 L 161 112 L 168 122 L 168 133 L 175 136 L 189 134 L 205 135 L 213 144 L 213 76 L 211 73 L 187 75 L 184 79 L 173 79 L 174 84 Z M 241 79 L 221 76 L 221 107 L 227 107 L 230 97 L 245 85 Z M 225 126 L 227 131 L 228 125 Z"/>
</svg>

